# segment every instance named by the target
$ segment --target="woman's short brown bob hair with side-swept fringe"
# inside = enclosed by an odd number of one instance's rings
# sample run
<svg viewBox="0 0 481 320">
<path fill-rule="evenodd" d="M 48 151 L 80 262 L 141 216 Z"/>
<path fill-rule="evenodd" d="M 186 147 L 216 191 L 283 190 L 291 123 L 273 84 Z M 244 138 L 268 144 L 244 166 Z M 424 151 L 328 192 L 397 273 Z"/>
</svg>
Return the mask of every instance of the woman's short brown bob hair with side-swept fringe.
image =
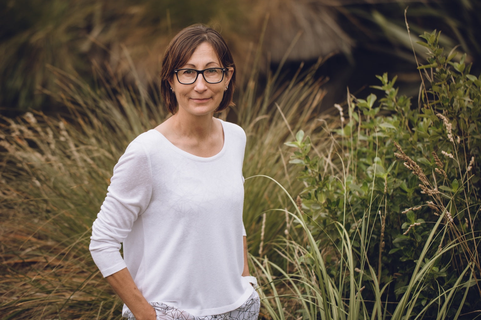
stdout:
<svg viewBox="0 0 481 320">
<path fill-rule="evenodd" d="M 162 71 L 160 72 L 160 94 L 165 102 L 165 107 L 170 113 L 177 112 L 176 95 L 170 90 L 169 80 L 174 75 L 174 70 L 184 66 L 194 53 L 197 47 L 207 42 L 213 48 L 223 68 L 233 68 L 234 72 L 230 78 L 227 91 L 215 112 L 220 112 L 227 107 L 233 107 L 232 102 L 236 84 L 236 68 L 232 54 L 222 36 L 212 28 L 203 24 L 193 24 L 182 29 L 169 43 L 165 49 L 162 59 Z"/>
</svg>

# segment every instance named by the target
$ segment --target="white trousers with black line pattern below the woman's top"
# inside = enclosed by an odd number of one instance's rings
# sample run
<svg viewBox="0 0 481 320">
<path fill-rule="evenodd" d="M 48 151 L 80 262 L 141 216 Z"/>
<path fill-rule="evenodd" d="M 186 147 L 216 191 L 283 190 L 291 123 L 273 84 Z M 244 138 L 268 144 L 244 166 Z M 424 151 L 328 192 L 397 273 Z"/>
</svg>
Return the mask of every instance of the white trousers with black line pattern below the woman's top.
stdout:
<svg viewBox="0 0 481 320">
<path fill-rule="evenodd" d="M 197 317 L 181 309 L 167 306 L 163 303 L 151 303 L 157 313 L 157 320 L 257 320 L 261 301 L 259 295 L 254 290 L 252 295 L 244 304 L 232 311 L 213 316 Z M 128 320 L 135 320 L 135 317 L 128 311 Z"/>
</svg>

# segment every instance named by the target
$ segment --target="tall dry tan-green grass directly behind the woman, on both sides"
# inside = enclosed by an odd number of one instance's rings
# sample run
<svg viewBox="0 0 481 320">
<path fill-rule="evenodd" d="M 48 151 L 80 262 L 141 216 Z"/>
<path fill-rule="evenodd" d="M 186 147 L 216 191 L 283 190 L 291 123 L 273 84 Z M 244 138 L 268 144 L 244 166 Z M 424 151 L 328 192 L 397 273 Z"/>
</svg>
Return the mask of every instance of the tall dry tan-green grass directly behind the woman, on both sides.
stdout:
<svg viewBox="0 0 481 320">
<path fill-rule="evenodd" d="M 311 70 L 287 80 L 273 74 L 261 87 L 259 66 L 252 63 L 251 79 L 230 111 L 248 136 L 244 176 L 266 174 L 300 189 L 284 142 L 292 130 L 316 130 L 308 123 L 322 101 L 321 83 Z M 140 81 L 124 86 L 101 69 L 92 66 L 91 85 L 51 67 L 57 90 L 44 94 L 63 112 L 1 119 L 1 319 L 120 319 L 122 303 L 89 255 L 90 228 L 128 142 L 167 114 Z M 260 221 L 263 211 L 286 198 L 272 183 L 248 180 L 245 188 L 244 221 L 255 252 L 261 241 L 283 232 L 284 218 L 268 217 L 265 229 Z"/>
</svg>

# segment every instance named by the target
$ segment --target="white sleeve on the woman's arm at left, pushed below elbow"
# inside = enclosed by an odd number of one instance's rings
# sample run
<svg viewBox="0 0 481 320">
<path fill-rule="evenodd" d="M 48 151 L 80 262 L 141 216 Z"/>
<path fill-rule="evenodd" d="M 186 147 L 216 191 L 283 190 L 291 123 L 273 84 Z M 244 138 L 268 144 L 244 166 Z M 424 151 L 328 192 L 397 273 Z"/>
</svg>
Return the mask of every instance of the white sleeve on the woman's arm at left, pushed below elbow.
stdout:
<svg viewBox="0 0 481 320">
<path fill-rule="evenodd" d="M 126 267 L 120 243 L 152 196 L 152 167 L 141 143 L 133 141 L 114 167 L 107 196 L 92 225 L 90 253 L 104 277 Z"/>
</svg>

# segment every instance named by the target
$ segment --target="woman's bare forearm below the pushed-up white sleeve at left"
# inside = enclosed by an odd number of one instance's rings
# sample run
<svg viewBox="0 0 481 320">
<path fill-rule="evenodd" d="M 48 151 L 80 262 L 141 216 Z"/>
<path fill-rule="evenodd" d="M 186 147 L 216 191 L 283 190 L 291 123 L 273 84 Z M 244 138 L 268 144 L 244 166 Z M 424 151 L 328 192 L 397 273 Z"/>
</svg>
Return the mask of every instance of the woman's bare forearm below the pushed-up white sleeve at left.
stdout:
<svg viewBox="0 0 481 320">
<path fill-rule="evenodd" d="M 112 286 L 115 293 L 124 301 L 137 320 L 156 319 L 155 309 L 142 296 L 127 268 L 105 277 L 105 280 Z"/>
</svg>

